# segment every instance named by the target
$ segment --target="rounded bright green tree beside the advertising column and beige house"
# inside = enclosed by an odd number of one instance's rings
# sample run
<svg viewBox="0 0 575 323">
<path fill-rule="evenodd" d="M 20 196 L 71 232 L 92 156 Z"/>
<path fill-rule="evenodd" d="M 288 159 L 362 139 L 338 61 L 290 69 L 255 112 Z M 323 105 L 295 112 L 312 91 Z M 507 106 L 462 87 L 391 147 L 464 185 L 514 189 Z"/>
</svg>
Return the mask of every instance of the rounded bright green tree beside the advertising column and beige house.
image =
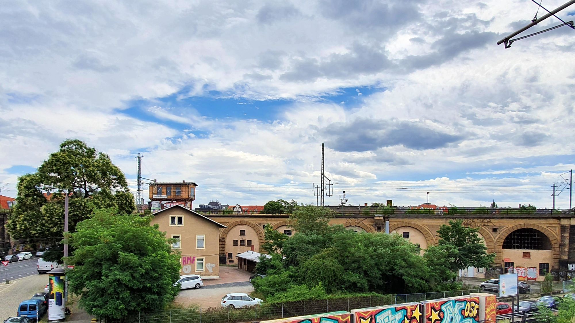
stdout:
<svg viewBox="0 0 575 323">
<path fill-rule="evenodd" d="M 70 236 L 67 279 L 79 303 L 98 318 L 164 309 L 179 292 L 180 256 L 151 217 L 97 209 Z"/>
</svg>

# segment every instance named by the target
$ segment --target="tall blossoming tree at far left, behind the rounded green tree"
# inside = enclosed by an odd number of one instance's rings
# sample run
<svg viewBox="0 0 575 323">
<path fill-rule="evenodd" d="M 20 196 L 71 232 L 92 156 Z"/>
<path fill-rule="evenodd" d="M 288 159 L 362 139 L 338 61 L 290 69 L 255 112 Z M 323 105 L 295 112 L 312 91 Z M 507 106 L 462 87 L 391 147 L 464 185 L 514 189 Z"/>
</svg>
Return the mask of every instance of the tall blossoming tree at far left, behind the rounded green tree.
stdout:
<svg viewBox="0 0 575 323">
<path fill-rule="evenodd" d="M 80 140 L 66 140 L 33 174 L 18 179 L 17 204 L 7 229 L 16 239 L 60 238 L 64 231 L 64 194 L 70 192 L 69 230 L 95 208 L 117 207 L 119 214 L 135 210 L 132 193 L 120 168 L 110 157 Z M 43 193 L 50 194 L 48 198 Z"/>
</svg>

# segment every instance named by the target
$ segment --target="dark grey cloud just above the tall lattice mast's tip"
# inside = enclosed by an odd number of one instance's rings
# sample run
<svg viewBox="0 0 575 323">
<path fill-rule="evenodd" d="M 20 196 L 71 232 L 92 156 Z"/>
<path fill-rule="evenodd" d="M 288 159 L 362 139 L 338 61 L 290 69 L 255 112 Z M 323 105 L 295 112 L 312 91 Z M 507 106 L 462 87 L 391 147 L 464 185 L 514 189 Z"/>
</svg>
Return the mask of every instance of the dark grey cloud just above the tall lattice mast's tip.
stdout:
<svg viewBox="0 0 575 323">
<path fill-rule="evenodd" d="M 375 151 L 382 147 L 403 145 L 424 150 L 446 147 L 463 140 L 462 135 L 430 129 L 419 122 L 357 119 L 335 122 L 323 129 L 329 147 L 340 152 Z"/>
</svg>

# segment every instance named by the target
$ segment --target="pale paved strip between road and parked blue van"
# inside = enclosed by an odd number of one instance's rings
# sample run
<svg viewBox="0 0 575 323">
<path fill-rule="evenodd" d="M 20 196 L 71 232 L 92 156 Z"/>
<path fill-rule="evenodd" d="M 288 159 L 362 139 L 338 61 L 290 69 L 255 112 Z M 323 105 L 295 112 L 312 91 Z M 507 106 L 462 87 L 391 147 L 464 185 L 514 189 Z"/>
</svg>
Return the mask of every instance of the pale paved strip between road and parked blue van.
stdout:
<svg viewBox="0 0 575 323">
<path fill-rule="evenodd" d="M 31 275 L 11 280 L 10 284 L 0 284 L 0 320 L 16 316 L 20 302 L 30 299 L 34 293 L 44 291 L 48 275 Z"/>
</svg>

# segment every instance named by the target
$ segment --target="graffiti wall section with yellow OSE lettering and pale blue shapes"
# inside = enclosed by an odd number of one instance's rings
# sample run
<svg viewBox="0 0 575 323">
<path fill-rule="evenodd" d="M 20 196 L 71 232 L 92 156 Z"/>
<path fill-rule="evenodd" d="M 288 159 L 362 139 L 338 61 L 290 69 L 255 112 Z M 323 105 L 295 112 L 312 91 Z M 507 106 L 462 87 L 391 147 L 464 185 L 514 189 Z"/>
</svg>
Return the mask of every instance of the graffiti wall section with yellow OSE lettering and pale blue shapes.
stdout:
<svg viewBox="0 0 575 323">
<path fill-rule="evenodd" d="M 442 298 L 424 301 L 425 322 L 475 323 L 479 322 L 479 298 Z"/>
</svg>

